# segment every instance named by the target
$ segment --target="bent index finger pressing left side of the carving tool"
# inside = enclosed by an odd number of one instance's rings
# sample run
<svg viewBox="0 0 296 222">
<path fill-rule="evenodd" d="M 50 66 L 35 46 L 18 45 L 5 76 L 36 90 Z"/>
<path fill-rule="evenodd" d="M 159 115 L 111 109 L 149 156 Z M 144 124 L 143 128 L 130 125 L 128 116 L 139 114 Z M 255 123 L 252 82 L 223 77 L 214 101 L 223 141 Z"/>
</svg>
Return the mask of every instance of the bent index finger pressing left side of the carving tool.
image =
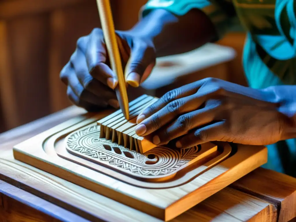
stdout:
<svg viewBox="0 0 296 222">
<path fill-rule="evenodd" d="M 106 65 L 107 51 L 102 30 L 94 29 L 89 35 L 85 57 L 89 73 L 104 85 L 115 89 L 118 81 L 110 67 Z"/>
</svg>

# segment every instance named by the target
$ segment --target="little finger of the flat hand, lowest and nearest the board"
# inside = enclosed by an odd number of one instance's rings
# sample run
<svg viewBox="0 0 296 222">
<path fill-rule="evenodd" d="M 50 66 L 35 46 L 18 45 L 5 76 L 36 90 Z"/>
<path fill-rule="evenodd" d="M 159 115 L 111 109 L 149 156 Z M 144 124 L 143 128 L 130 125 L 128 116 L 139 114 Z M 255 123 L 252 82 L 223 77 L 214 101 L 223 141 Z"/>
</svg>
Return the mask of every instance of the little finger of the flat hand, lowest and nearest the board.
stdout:
<svg viewBox="0 0 296 222">
<path fill-rule="evenodd" d="M 208 126 L 197 128 L 176 142 L 177 148 L 190 148 L 210 141 L 227 141 L 225 121 L 219 121 Z"/>
</svg>

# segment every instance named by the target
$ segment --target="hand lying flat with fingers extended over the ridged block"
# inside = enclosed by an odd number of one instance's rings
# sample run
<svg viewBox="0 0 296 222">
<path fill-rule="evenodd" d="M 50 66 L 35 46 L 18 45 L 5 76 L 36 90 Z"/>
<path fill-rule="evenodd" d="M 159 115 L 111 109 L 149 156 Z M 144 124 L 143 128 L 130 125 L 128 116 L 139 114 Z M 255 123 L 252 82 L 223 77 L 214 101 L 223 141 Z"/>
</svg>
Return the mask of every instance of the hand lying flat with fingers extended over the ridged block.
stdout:
<svg viewBox="0 0 296 222">
<path fill-rule="evenodd" d="M 281 140 L 286 117 L 272 90 L 206 78 L 172 90 L 137 118 L 139 136 L 177 148 L 208 141 L 268 145 Z"/>
</svg>

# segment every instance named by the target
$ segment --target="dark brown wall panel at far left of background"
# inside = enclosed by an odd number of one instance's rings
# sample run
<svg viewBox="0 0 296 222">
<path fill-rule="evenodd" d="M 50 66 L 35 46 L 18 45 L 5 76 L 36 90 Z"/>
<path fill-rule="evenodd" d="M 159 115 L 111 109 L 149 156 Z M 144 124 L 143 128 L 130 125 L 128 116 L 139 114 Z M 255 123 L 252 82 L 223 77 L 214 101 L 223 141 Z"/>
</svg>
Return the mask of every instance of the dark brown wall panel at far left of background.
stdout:
<svg viewBox="0 0 296 222">
<path fill-rule="evenodd" d="M 48 114 L 48 16 L 35 15 L 8 23 L 12 73 L 19 124 Z"/>
</svg>

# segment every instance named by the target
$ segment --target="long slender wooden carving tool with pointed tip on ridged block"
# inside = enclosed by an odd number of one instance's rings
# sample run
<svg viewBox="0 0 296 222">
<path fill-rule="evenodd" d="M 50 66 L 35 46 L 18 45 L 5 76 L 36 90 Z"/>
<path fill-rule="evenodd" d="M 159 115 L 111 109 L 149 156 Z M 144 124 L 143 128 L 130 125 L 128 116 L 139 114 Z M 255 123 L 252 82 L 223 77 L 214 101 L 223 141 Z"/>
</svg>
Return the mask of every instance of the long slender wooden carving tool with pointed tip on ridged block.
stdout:
<svg viewBox="0 0 296 222">
<path fill-rule="evenodd" d="M 128 95 L 126 91 L 126 82 L 123 75 L 120 53 L 115 36 L 115 28 L 112 19 L 112 12 L 109 0 L 96 0 L 99 16 L 101 20 L 104 39 L 110 58 L 110 64 L 115 77 L 118 80 L 118 86 L 115 88 L 116 96 L 120 105 L 120 109 L 124 117 L 129 120 Z"/>
</svg>

